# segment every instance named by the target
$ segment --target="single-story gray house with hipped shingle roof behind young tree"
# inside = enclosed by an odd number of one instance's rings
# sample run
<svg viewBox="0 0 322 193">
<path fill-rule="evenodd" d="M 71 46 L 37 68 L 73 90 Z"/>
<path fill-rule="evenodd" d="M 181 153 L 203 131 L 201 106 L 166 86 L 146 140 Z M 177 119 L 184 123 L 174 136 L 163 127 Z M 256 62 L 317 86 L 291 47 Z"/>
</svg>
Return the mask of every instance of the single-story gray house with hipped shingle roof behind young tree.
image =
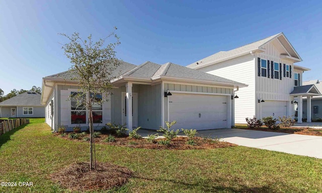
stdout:
<svg viewBox="0 0 322 193">
<path fill-rule="evenodd" d="M 236 81 L 193 70 L 173 63 L 139 66 L 121 62 L 112 73 L 113 89 L 102 93 L 108 101 L 93 111 L 96 129 L 108 122 L 158 129 L 165 121 L 177 121 L 174 129 L 230 128 L 233 122 L 234 89 L 246 87 Z M 88 110 L 77 107 L 71 98 L 79 92 L 70 71 L 43 78 L 41 103 L 46 106 L 46 122 L 57 131 L 74 126 L 89 127 Z M 101 98 L 102 96 L 97 96 Z M 130 104 L 130 105 L 129 105 Z"/>
</svg>

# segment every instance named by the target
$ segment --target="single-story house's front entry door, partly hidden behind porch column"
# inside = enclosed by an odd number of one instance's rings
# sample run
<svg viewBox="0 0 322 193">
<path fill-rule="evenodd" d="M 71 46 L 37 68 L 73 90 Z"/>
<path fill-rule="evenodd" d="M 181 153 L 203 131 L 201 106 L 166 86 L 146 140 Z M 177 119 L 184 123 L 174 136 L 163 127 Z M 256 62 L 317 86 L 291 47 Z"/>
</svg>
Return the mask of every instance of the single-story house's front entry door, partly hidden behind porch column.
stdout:
<svg viewBox="0 0 322 193">
<path fill-rule="evenodd" d="M 132 126 L 137 127 L 137 93 L 132 93 L 132 100 L 130 100 L 131 105 L 132 105 Z M 126 113 L 126 93 L 122 92 L 122 125 L 126 123 L 127 121 L 127 113 Z"/>
</svg>

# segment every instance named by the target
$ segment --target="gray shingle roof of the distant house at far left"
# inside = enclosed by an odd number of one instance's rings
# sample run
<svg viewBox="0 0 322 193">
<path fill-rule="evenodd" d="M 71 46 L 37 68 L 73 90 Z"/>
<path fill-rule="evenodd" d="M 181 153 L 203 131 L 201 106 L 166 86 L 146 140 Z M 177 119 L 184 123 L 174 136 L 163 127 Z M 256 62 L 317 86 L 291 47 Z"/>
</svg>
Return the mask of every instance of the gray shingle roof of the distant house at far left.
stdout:
<svg viewBox="0 0 322 193">
<path fill-rule="evenodd" d="M 40 98 L 41 94 L 30 90 L 0 102 L 0 106 L 43 106 L 40 104 Z"/>
</svg>

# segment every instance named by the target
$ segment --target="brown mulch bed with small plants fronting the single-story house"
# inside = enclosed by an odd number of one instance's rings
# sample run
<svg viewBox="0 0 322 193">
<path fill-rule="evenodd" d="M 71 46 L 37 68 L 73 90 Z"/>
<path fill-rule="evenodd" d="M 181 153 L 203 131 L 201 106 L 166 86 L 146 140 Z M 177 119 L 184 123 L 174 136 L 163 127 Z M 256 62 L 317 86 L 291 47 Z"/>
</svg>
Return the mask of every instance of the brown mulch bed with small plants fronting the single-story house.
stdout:
<svg viewBox="0 0 322 193">
<path fill-rule="evenodd" d="M 59 136 L 59 133 L 55 134 Z M 87 135 L 89 137 L 89 134 Z M 132 148 L 144 148 L 144 149 L 173 149 L 173 150 L 185 150 L 185 149 L 215 149 L 215 148 L 222 148 L 222 147 L 232 147 L 237 146 L 233 143 L 228 143 L 219 140 L 212 140 L 209 138 L 201 138 L 201 137 L 194 137 L 194 141 L 196 145 L 188 145 L 188 137 L 175 137 L 169 145 L 162 145 L 158 144 L 157 142 L 160 140 L 166 139 L 155 139 L 153 143 L 148 142 L 146 139 L 130 139 L 128 136 L 126 137 L 116 137 L 114 142 L 104 142 L 104 139 L 107 138 L 107 134 L 101 134 L 98 138 L 95 138 L 95 143 L 100 144 L 108 144 L 108 145 L 115 145 L 115 146 L 123 146 L 123 147 L 132 147 Z M 73 140 L 73 141 L 83 141 L 82 138 L 79 139 L 70 139 L 66 135 L 62 137 L 64 139 Z M 89 142 L 89 141 L 83 141 Z"/>
</svg>

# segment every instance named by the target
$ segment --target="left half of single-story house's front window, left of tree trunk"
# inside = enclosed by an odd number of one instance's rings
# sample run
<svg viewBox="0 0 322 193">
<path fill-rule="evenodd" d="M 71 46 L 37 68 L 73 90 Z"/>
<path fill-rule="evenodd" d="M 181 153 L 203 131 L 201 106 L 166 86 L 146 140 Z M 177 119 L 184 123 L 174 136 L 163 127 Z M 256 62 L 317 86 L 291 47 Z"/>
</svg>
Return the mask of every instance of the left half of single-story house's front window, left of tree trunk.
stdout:
<svg viewBox="0 0 322 193">
<path fill-rule="evenodd" d="M 86 96 L 81 92 L 70 92 L 71 124 L 86 124 Z"/>
</svg>

